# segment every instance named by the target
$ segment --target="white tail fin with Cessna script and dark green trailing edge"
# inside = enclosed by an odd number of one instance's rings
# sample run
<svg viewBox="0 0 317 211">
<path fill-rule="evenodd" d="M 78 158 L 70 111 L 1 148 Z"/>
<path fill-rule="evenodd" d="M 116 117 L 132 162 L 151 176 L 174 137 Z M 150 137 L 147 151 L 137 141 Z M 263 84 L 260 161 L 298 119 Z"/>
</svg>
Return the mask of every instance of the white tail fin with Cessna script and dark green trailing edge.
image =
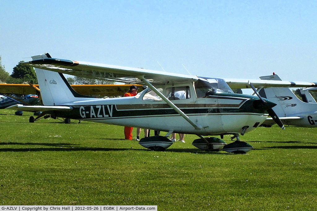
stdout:
<svg viewBox="0 0 317 211">
<path fill-rule="evenodd" d="M 33 60 L 51 58 L 49 54 L 32 56 Z M 68 102 L 93 99 L 76 93 L 63 74 L 35 68 L 44 105 L 65 105 Z"/>
</svg>

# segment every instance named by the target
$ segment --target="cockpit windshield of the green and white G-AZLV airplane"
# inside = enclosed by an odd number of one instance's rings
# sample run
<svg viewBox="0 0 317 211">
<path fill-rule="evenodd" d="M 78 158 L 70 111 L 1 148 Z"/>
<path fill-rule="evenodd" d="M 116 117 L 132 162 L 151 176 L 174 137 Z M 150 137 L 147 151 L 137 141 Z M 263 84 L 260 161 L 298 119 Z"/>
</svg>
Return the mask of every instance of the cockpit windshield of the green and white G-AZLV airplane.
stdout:
<svg viewBox="0 0 317 211">
<path fill-rule="evenodd" d="M 197 98 L 206 96 L 208 91 L 213 93 L 233 93 L 228 84 L 220 78 L 202 78 L 195 82 Z"/>
</svg>

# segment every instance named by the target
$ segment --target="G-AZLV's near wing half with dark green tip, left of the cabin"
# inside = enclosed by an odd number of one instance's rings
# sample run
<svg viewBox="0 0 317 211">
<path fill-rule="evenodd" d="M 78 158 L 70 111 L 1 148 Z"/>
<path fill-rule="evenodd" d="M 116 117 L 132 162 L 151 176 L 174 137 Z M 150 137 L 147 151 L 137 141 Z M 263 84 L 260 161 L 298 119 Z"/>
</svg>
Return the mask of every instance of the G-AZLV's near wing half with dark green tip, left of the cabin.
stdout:
<svg viewBox="0 0 317 211">
<path fill-rule="evenodd" d="M 46 54 L 48 55 L 48 54 Z M 38 58 L 42 56 L 39 55 Z M 36 58 L 36 57 L 34 57 Z M 174 74 L 143 68 L 122 67 L 116 65 L 99 64 L 84 61 L 72 61 L 55 58 L 43 58 L 22 62 L 23 64 L 58 73 L 87 77 L 94 79 L 107 79 L 119 82 L 144 84 L 146 79 L 151 84 L 186 83 L 198 80 L 197 76 Z"/>
</svg>

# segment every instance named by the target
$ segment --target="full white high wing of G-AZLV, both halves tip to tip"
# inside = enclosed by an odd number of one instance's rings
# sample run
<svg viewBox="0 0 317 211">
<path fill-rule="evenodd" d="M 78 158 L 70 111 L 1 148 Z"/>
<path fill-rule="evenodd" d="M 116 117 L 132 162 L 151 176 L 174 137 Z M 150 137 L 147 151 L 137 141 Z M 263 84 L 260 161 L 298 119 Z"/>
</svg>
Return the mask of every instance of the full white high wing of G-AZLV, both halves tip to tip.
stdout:
<svg viewBox="0 0 317 211">
<path fill-rule="evenodd" d="M 42 56 L 45 55 L 45 56 Z M 48 58 L 47 58 L 48 57 Z M 186 74 L 175 74 L 163 71 L 148 70 L 143 68 L 122 67 L 85 61 L 73 61 L 51 58 L 49 54 L 33 57 L 34 60 L 22 62 L 23 64 L 58 73 L 87 77 L 94 79 L 107 79 L 120 82 L 145 84 L 147 80 L 153 85 L 186 83 L 197 81 L 199 77 Z M 276 81 L 276 80 L 248 80 L 225 79 L 230 88 L 250 88 L 251 82 L 255 87 L 314 87 L 317 83 L 301 81 Z"/>
</svg>

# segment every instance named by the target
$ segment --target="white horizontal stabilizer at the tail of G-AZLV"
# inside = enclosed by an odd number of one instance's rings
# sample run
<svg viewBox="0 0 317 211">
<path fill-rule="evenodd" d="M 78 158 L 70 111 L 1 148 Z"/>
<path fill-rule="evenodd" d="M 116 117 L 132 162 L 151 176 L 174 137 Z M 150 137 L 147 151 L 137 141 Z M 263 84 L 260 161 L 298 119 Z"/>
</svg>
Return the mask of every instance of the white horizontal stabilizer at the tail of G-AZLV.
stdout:
<svg viewBox="0 0 317 211">
<path fill-rule="evenodd" d="M 70 106 L 42 106 L 42 105 L 21 105 L 16 104 L 6 109 L 26 111 L 26 112 L 46 112 L 46 111 L 71 111 L 73 110 Z"/>
</svg>

